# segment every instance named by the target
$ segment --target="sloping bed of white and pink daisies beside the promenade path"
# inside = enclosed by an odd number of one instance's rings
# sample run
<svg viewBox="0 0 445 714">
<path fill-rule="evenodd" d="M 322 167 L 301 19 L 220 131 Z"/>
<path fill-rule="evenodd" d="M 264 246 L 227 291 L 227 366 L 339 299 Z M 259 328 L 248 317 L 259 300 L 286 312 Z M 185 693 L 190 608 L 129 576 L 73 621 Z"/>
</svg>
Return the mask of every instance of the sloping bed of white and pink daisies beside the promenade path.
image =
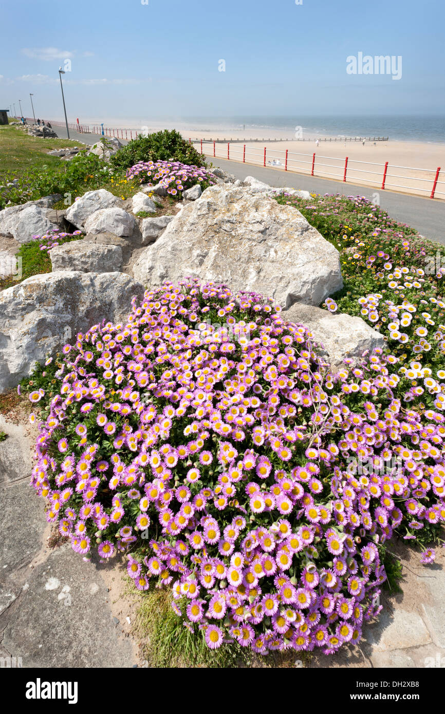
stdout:
<svg viewBox="0 0 445 714">
<path fill-rule="evenodd" d="M 384 335 L 399 357 L 404 403 L 421 397 L 421 408 L 443 409 L 445 269 L 438 246 L 363 197 L 279 202 L 299 208 L 340 251 L 344 288 L 326 308 L 360 316 Z"/>
</svg>

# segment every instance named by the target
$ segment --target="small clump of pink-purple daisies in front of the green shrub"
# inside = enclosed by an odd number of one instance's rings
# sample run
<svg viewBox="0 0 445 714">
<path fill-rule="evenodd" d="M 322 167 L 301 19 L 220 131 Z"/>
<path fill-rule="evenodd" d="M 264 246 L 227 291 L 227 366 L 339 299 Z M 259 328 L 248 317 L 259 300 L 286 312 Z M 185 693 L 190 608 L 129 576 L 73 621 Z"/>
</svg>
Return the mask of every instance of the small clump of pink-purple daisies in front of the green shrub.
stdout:
<svg viewBox="0 0 445 714">
<path fill-rule="evenodd" d="M 140 161 L 126 171 L 126 177 L 129 181 L 137 178 L 140 183 L 148 183 L 149 186 L 160 183 L 170 196 L 177 196 L 196 183 L 201 184 L 203 191 L 216 183 L 209 169 L 181 164 L 180 161 Z"/>
</svg>

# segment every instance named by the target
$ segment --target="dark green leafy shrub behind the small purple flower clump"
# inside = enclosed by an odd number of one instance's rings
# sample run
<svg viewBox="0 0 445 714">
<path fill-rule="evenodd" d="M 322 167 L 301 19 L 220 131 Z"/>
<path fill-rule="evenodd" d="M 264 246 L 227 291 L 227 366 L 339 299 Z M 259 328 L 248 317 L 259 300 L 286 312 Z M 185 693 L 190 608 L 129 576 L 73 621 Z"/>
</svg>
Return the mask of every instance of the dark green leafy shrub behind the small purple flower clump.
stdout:
<svg viewBox="0 0 445 714">
<path fill-rule="evenodd" d="M 121 170 L 130 169 L 140 161 L 181 161 L 191 166 L 206 166 L 204 156 L 176 129 L 138 136 L 110 159 L 111 166 Z"/>
</svg>

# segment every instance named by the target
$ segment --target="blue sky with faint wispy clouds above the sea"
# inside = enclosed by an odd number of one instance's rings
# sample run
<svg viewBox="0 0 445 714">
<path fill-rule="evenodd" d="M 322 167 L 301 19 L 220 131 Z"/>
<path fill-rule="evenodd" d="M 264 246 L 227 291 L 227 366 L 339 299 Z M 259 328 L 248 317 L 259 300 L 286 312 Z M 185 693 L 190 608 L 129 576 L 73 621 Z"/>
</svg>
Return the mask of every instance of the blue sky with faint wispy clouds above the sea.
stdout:
<svg viewBox="0 0 445 714">
<path fill-rule="evenodd" d="M 1 4 L 0 108 L 77 116 L 444 114 L 443 0 L 22 0 Z M 401 56 L 402 76 L 346 74 Z M 225 71 L 219 71 L 219 61 Z"/>
</svg>

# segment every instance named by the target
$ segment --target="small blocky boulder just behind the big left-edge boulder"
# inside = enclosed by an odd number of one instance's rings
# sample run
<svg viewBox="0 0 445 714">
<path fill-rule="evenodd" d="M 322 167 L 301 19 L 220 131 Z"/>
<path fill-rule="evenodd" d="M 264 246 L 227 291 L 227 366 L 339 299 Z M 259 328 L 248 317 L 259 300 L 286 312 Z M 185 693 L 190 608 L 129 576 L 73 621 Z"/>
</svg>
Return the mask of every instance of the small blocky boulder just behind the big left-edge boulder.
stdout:
<svg viewBox="0 0 445 714">
<path fill-rule="evenodd" d="M 120 246 L 70 241 L 49 251 L 51 266 L 56 271 L 81 271 L 82 273 L 112 273 L 122 268 Z"/>
</svg>

